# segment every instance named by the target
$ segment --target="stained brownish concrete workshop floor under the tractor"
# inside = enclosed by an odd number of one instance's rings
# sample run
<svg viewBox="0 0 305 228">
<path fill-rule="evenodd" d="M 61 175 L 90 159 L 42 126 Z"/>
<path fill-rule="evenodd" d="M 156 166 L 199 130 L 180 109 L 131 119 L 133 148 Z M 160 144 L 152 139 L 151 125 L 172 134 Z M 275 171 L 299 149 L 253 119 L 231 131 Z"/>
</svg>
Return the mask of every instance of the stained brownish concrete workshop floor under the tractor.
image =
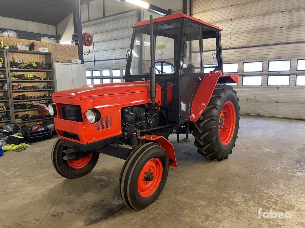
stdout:
<svg viewBox="0 0 305 228">
<path fill-rule="evenodd" d="M 233 154 L 207 161 L 193 144 L 174 144 L 159 199 L 142 211 L 127 208 L 118 192 L 123 160 L 100 155 L 79 179 L 54 170 L 55 141 L 0 157 L 0 227 L 305 227 L 305 122 L 242 116 Z M 264 219 L 262 212 L 290 212 Z"/>
</svg>

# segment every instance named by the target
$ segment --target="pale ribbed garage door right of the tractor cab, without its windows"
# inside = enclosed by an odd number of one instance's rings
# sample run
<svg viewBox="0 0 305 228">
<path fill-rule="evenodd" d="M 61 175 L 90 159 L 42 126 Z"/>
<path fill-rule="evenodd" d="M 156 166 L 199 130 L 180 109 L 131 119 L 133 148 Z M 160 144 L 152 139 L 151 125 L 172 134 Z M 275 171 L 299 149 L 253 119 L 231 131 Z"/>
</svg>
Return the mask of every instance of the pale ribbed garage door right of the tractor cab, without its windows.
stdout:
<svg viewBox="0 0 305 228">
<path fill-rule="evenodd" d="M 224 63 L 238 63 L 241 113 L 305 119 L 305 86 L 296 86 L 297 60 L 305 59 L 304 1 L 194 0 L 195 18 L 224 29 Z M 212 51 L 212 54 L 215 51 Z M 207 53 L 209 55 L 209 53 Z M 291 60 L 290 71 L 268 71 L 268 61 Z M 263 61 L 263 71 L 244 73 L 244 62 Z M 210 63 L 205 63 L 210 64 Z M 290 75 L 289 86 L 267 86 L 268 75 Z M 262 75 L 262 86 L 242 86 L 242 77 Z"/>
</svg>

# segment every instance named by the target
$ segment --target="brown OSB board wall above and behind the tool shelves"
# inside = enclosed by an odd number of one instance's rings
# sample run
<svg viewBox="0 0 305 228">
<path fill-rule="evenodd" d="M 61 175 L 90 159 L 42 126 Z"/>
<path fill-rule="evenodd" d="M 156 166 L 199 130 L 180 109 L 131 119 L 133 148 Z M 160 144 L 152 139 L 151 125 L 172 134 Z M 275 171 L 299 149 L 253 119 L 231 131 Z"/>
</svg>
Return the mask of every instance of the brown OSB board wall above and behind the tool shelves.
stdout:
<svg viewBox="0 0 305 228">
<path fill-rule="evenodd" d="M 36 46 L 34 49 L 37 49 L 39 47 L 46 47 L 48 48 L 49 52 L 52 52 L 53 54 L 53 59 L 55 61 L 61 61 L 61 62 L 68 62 L 73 59 L 78 59 L 78 50 L 77 50 L 77 46 L 75 45 L 66 45 L 66 44 L 60 44 L 60 43 L 50 43 L 50 42 L 43 42 L 43 41 L 37 41 L 37 40 L 23 40 L 23 39 L 16 39 L 16 38 L 9 38 L 9 37 L 2 37 L 0 36 L 0 41 L 3 41 L 4 46 L 8 46 L 8 45 L 15 45 L 17 46 L 17 43 L 27 43 L 28 45 L 30 45 L 30 43 L 32 43 L 33 41 L 35 42 Z M 22 54 L 22 58 L 25 61 L 28 61 L 26 59 L 25 54 Z M 29 55 L 31 56 L 31 55 Z M 17 59 L 18 55 L 14 54 L 14 59 Z M 11 58 L 11 57 L 10 57 Z M 29 57 L 31 58 L 31 57 Z M 28 61 L 30 62 L 30 61 Z"/>
</svg>

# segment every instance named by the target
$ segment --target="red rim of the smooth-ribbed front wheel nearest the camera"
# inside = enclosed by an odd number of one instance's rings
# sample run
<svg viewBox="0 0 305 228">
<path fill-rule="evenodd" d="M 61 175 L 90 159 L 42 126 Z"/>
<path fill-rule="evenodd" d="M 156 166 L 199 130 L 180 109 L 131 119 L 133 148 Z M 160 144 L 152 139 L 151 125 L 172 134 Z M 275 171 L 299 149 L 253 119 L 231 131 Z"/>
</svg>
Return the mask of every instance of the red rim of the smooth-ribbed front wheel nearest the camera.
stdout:
<svg viewBox="0 0 305 228">
<path fill-rule="evenodd" d="M 144 165 L 138 179 L 138 192 L 142 197 L 149 197 L 157 190 L 162 173 L 163 166 L 159 158 L 152 158 Z"/>
</svg>

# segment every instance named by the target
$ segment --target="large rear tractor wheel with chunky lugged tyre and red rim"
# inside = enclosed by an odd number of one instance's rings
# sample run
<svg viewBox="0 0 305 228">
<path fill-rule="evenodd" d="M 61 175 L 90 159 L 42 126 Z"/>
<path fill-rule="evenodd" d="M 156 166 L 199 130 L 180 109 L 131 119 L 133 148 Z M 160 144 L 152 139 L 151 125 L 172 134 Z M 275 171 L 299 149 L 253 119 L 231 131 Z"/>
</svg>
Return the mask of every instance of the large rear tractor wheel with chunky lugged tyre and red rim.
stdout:
<svg viewBox="0 0 305 228">
<path fill-rule="evenodd" d="M 210 102 L 194 123 L 197 151 L 209 160 L 224 160 L 232 153 L 239 129 L 239 105 L 231 86 L 217 84 Z"/>
</svg>

